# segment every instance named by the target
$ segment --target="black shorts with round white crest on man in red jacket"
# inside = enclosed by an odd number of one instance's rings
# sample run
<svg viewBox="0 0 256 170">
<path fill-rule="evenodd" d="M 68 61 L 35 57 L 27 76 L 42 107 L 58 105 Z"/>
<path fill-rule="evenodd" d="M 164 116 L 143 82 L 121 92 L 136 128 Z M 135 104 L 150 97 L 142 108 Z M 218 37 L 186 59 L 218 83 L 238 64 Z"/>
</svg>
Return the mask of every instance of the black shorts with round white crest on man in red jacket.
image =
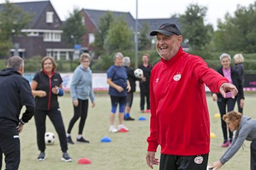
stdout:
<svg viewBox="0 0 256 170">
<path fill-rule="evenodd" d="M 209 154 L 195 156 L 177 156 L 161 154 L 160 170 L 205 170 Z"/>
</svg>

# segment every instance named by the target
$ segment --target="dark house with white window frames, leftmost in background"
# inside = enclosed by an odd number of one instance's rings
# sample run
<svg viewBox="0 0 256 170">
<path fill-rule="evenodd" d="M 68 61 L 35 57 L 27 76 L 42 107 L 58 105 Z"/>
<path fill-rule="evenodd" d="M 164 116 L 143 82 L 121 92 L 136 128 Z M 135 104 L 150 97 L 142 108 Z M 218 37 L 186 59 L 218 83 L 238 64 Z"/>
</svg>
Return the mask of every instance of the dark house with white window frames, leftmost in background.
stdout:
<svg viewBox="0 0 256 170">
<path fill-rule="evenodd" d="M 57 60 L 69 59 L 73 55 L 73 47 L 61 40 L 63 30 L 61 22 L 50 1 L 13 3 L 22 10 L 32 15 L 32 23 L 22 32 L 26 36 L 14 36 L 13 55 L 15 50 L 23 58 L 34 56 L 52 56 Z M 0 9 L 1 9 L 0 5 Z"/>
</svg>

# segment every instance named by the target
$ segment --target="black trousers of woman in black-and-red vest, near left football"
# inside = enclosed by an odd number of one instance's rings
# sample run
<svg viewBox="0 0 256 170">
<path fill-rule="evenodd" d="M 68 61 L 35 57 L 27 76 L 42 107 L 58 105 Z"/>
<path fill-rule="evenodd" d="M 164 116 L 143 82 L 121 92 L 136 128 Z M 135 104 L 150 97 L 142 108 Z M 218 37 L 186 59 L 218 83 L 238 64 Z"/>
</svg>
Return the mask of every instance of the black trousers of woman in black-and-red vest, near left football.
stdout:
<svg viewBox="0 0 256 170">
<path fill-rule="evenodd" d="M 35 110 L 36 137 L 38 139 L 38 148 L 41 152 L 46 150 L 46 143 L 44 142 L 44 134 L 46 133 L 46 115 L 48 115 L 59 135 L 61 151 L 67 152 L 68 150 L 65 127 L 59 110 L 59 108 L 50 111 Z"/>
</svg>

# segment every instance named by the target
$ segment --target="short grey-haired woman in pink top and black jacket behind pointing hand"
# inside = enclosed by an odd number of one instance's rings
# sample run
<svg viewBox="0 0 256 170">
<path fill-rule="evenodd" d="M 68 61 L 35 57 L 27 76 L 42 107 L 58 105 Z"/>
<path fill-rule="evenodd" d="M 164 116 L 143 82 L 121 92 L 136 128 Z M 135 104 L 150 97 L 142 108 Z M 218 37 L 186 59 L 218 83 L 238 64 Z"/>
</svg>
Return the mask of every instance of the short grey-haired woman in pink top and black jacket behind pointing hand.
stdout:
<svg viewBox="0 0 256 170">
<path fill-rule="evenodd" d="M 243 103 L 244 97 L 243 97 L 243 86 L 242 86 L 242 80 L 237 73 L 237 71 L 230 66 L 231 58 L 229 54 L 223 53 L 220 56 L 221 61 L 221 67 L 218 69 L 218 73 L 220 73 L 222 76 L 225 76 L 228 78 L 229 83 L 234 84 L 238 90 L 238 95 L 233 99 L 231 96 L 231 92 L 226 93 L 226 97 L 222 97 L 221 94 L 213 94 L 212 98 L 213 101 L 217 101 L 218 109 L 220 110 L 221 114 L 221 128 L 224 135 L 224 142 L 222 143 L 221 147 L 228 147 L 232 143 L 233 139 L 233 132 L 229 130 L 229 140 L 228 140 L 228 133 L 227 133 L 227 127 L 224 120 L 222 120 L 222 117 L 224 114 L 226 114 L 226 107 L 228 107 L 228 112 L 234 110 L 234 106 L 237 101 L 237 97 L 239 96 L 241 98 L 241 103 Z"/>
</svg>

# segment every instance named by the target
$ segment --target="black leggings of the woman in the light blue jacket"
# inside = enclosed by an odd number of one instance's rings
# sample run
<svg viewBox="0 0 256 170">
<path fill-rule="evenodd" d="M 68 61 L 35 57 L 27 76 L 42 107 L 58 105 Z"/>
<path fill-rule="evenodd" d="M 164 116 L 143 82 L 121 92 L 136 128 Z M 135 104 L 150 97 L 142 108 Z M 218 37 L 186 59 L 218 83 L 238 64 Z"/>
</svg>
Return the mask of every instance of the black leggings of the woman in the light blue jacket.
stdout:
<svg viewBox="0 0 256 170">
<path fill-rule="evenodd" d="M 84 129 L 85 120 L 88 113 L 88 99 L 87 100 L 79 100 L 79 105 L 77 107 L 74 106 L 74 116 L 72 117 L 71 121 L 69 122 L 68 131 L 67 133 L 71 133 L 71 130 L 76 123 L 76 121 L 81 117 L 79 123 L 79 134 L 82 134 L 82 130 Z"/>
</svg>

